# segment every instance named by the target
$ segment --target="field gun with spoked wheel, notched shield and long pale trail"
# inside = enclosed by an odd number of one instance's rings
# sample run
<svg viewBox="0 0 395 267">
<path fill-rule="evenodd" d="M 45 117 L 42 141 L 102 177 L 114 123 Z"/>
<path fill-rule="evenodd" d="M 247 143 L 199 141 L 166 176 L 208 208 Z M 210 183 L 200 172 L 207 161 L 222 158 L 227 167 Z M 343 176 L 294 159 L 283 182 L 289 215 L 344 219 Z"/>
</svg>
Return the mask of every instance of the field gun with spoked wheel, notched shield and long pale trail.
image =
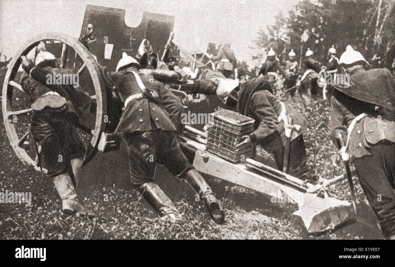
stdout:
<svg viewBox="0 0 395 267">
<path fill-rule="evenodd" d="M 11 147 L 21 162 L 40 170 L 40 166 L 34 160 L 36 151 L 28 148 L 34 143 L 27 130 L 28 119 L 24 123 L 20 123 L 19 119 L 13 120 L 15 117 L 28 118 L 32 111 L 27 103 L 18 99 L 17 95 L 23 94 L 23 90 L 17 82 L 17 73 L 21 70 L 21 56 L 32 53 L 40 42 L 46 43 L 49 51 L 60 58 L 60 66 L 70 68 L 75 73 L 81 73 L 80 84 L 82 85 L 80 87 L 96 100 L 96 111 L 86 114 L 80 124 L 80 130 L 84 132 L 88 143 L 86 161 L 100 161 L 97 159 L 96 152 L 100 141 L 103 142 L 100 140 L 104 136 L 103 133 L 111 133 L 110 124 L 105 118 L 106 116 L 111 118 L 112 107 L 109 104 L 109 96 L 97 62 L 107 66 L 110 70 L 115 70 L 122 52 L 137 51 L 142 39 L 147 38 L 151 38 L 150 42 L 156 53 L 163 52 L 162 48 L 165 47 L 168 36 L 173 30 L 174 17 L 171 16 L 144 13 L 142 23 L 137 28 L 130 28 L 124 23 L 124 14 L 123 9 L 87 6 L 80 37 L 87 37 L 87 34 L 90 36 L 90 51 L 77 38 L 60 33 L 46 33 L 24 43 L 13 57 L 4 79 L 2 113 Z M 94 38 L 91 36 L 92 26 Z M 108 37 L 109 43 L 97 41 L 105 40 L 105 36 Z M 111 53 L 108 52 L 108 44 L 113 45 L 110 49 Z M 192 61 L 195 60 L 192 55 L 188 57 Z M 196 67 L 199 68 L 199 64 Z M 184 96 L 181 92 L 176 93 Z M 23 104 L 26 106 L 23 107 Z M 206 112 L 211 112 L 211 110 L 206 110 Z M 350 203 L 328 196 L 323 185 L 306 184 L 291 175 L 250 158 L 246 158 L 244 162 L 230 162 L 208 152 L 206 149 L 207 133 L 190 126 L 185 126 L 184 133 L 180 134 L 179 139 L 184 153 L 199 172 L 269 196 L 275 203 L 297 204 L 299 209 L 294 214 L 301 216 L 308 232 L 333 229 L 350 219 L 352 214 Z M 110 141 L 109 145 L 111 142 L 115 141 Z M 113 153 L 119 158 L 127 155 L 122 149 Z M 105 159 L 105 153 L 102 158 Z M 92 168 L 94 164 L 91 162 L 85 167 Z M 96 163 L 96 166 L 101 166 L 100 162 Z M 112 170 L 115 169 L 124 168 L 113 166 Z M 335 178 L 331 182 L 342 179 L 342 177 Z M 325 185 L 329 186 L 329 183 Z"/>
</svg>

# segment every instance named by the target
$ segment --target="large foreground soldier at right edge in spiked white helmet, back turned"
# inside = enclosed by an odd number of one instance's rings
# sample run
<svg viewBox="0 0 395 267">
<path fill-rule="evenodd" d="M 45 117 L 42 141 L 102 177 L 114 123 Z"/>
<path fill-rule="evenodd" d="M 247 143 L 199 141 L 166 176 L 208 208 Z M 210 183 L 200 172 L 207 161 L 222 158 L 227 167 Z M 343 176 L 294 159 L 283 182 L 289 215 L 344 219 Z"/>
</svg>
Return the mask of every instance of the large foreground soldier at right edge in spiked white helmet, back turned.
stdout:
<svg viewBox="0 0 395 267">
<path fill-rule="evenodd" d="M 384 237 L 395 239 L 395 80 L 349 45 L 339 67 L 350 86 L 333 85 L 330 130 L 340 133 Z"/>
</svg>

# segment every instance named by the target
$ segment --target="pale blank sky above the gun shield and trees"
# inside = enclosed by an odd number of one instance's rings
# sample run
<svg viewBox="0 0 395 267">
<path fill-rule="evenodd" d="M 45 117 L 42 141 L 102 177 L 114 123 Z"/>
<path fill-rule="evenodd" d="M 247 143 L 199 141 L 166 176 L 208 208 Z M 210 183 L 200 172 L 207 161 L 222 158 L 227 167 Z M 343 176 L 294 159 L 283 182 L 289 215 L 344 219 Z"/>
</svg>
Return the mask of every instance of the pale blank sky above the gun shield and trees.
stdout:
<svg viewBox="0 0 395 267">
<path fill-rule="evenodd" d="M 1 0 L 0 51 L 13 56 L 19 46 L 40 32 L 79 37 L 85 6 L 126 9 L 125 22 L 135 27 L 143 12 L 175 16 L 174 42 L 188 51 L 206 51 L 209 42 L 231 42 L 237 60 L 256 62 L 253 45 L 260 28 L 288 13 L 299 0 Z"/>
</svg>

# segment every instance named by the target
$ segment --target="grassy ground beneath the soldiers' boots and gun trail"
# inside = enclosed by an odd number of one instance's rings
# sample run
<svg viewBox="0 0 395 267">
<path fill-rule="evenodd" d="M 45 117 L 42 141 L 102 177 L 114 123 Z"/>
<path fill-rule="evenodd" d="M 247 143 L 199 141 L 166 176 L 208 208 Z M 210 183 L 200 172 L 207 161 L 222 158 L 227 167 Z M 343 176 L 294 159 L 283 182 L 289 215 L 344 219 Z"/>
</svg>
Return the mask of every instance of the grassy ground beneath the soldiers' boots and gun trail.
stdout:
<svg viewBox="0 0 395 267">
<path fill-rule="evenodd" d="M 301 103 L 298 98 L 296 102 Z M 308 120 L 305 133 L 308 165 L 316 175 L 333 178 L 343 172 L 342 162 L 329 141 L 329 105 L 325 101 L 311 105 L 295 104 Z M 2 118 L 1 118 L 2 121 Z M 184 221 L 162 222 L 157 214 L 130 188 L 128 181 L 115 170 L 116 157 L 85 169 L 79 198 L 97 214 L 97 218 L 65 216 L 53 182 L 23 165 L 9 145 L 4 126 L 0 127 L 0 192 L 32 192 L 32 205 L 0 204 L 0 239 L 364 239 L 380 238 L 374 228 L 375 219 L 366 205 L 359 182 L 354 179 L 359 209 L 369 224 L 349 223 L 335 231 L 309 235 L 301 219 L 292 215 L 291 204 L 273 204 L 266 197 L 208 179 L 226 210 L 224 225 L 210 220 L 194 192 L 180 181 L 159 182 L 174 201 Z M 106 173 L 107 172 L 107 173 Z M 161 170 L 165 173 L 166 170 Z M 350 199 L 346 181 L 331 188 L 339 199 Z M 108 201 L 106 201 L 108 196 Z"/>
</svg>

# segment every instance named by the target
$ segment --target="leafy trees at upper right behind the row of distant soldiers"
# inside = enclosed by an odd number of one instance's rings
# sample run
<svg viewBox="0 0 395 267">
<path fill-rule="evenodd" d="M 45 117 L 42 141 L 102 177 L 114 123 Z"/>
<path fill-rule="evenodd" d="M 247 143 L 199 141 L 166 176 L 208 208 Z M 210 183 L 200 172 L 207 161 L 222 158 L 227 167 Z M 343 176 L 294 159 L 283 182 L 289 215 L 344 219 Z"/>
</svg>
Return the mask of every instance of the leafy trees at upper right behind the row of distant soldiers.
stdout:
<svg viewBox="0 0 395 267">
<path fill-rule="evenodd" d="M 378 64 L 391 68 L 395 58 L 394 6 L 395 0 L 304 0 L 287 17 L 279 14 L 274 25 L 260 29 L 254 43 L 261 50 L 273 47 L 278 54 L 284 49 L 300 51 L 301 36 L 307 32 L 303 55 L 310 48 L 325 62 L 332 45 L 339 55 L 352 45 L 367 60 L 374 56 Z"/>
</svg>

